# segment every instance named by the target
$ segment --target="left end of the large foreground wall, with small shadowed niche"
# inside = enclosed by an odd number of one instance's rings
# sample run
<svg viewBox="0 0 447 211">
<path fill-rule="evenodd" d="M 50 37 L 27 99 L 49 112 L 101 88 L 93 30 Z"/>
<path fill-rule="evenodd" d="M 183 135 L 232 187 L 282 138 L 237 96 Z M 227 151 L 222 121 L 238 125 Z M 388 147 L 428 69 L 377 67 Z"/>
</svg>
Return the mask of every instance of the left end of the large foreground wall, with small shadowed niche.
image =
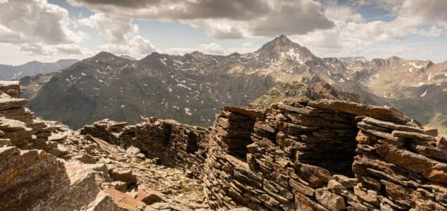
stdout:
<svg viewBox="0 0 447 211">
<path fill-rule="evenodd" d="M 266 181 L 261 172 L 251 170 L 250 151 L 253 125 L 262 121 L 261 110 L 225 107 L 216 115 L 210 134 L 206 165 L 205 191 L 211 207 L 234 208 L 246 205 L 253 210 L 282 210 L 291 207 L 292 197 L 275 181 Z M 244 150 L 245 148 L 245 150 Z M 268 186 L 270 189 L 265 189 Z M 275 190 L 275 191 L 271 191 Z M 274 193 L 277 190 L 282 193 Z M 283 197 L 284 196 L 284 197 Z M 282 203 L 275 197 L 280 198 Z"/>
</svg>

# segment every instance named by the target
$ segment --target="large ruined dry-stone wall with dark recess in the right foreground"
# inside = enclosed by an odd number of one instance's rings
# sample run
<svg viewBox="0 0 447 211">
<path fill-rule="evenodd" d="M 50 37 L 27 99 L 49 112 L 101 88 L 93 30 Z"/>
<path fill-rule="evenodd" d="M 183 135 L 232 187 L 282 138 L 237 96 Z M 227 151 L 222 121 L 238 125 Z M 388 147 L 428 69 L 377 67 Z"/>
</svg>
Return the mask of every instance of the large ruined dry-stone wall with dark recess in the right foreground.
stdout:
<svg viewBox="0 0 447 211">
<path fill-rule="evenodd" d="M 265 113 L 222 108 L 213 128 L 215 209 L 447 209 L 445 139 L 394 108 L 292 99 Z"/>
</svg>

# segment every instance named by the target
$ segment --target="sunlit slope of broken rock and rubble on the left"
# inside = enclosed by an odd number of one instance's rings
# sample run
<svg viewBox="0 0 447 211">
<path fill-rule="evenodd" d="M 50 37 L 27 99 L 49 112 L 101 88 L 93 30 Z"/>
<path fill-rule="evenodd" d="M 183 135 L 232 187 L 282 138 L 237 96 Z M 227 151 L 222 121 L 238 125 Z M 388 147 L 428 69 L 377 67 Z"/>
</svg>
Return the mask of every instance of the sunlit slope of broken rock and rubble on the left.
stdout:
<svg viewBox="0 0 447 211">
<path fill-rule="evenodd" d="M 127 155 L 121 147 L 127 139 L 111 144 L 41 120 L 25 103 L 0 91 L 0 210 L 208 207 L 190 173 L 154 165 L 141 153 Z"/>
</svg>

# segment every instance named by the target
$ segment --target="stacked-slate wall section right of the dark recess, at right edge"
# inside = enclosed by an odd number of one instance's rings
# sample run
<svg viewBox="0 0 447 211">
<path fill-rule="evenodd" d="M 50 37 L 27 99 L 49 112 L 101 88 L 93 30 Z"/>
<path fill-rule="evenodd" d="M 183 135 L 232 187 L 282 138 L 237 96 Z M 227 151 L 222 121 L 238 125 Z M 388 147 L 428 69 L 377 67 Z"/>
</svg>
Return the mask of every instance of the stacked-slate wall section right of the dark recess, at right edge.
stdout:
<svg viewBox="0 0 447 211">
<path fill-rule="evenodd" d="M 446 140 L 436 139 L 436 130 L 373 117 L 364 117 L 358 128 L 353 171 L 359 183 L 345 189 L 360 198 L 359 207 L 447 210 Z"/>
</svg>

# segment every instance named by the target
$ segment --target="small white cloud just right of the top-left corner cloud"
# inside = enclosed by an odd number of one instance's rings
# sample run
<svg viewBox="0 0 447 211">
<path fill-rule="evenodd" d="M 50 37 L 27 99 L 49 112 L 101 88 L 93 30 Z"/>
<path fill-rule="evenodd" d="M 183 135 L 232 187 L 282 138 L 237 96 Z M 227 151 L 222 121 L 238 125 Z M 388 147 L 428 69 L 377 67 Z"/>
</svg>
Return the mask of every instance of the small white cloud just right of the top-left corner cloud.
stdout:
<svg viewBox="0 0 447 211">
<path fill-rule="evenodd" d="M 151 44 L 151 41 L 137 35 L 139 27 L 133 24 L 130 18 L 106 13 L 95 13 L 89 18 L 80 19 L 79 24 L 94 27 L 99 31 L 99 34 L 108 41 L 108 44 L 99 46 L 104 51 L 139 57 L 149 54 L 156 49 Z"/>
</svg>

